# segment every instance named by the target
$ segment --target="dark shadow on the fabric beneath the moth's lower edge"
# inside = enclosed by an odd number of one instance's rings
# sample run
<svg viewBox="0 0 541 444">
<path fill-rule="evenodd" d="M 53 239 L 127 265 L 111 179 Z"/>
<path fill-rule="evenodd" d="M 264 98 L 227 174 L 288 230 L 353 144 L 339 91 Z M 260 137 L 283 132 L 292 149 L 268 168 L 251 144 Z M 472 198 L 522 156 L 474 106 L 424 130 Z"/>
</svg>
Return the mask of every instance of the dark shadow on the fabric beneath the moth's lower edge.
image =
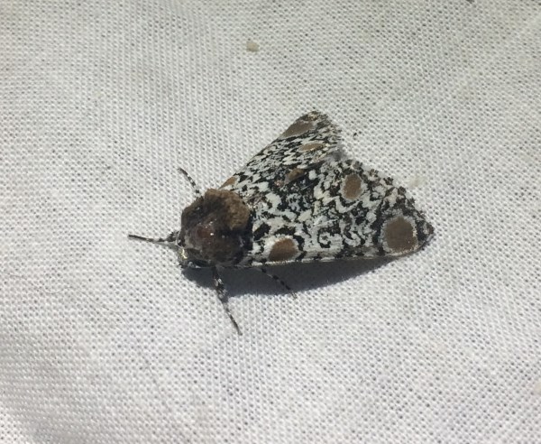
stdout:
<svg viewBox="0 0 541 444">
<path fill-rule="evenodd" d="M 344 282 L 362 274 L 371 273 L 392 259 L 357 259 L 326 263 L 287 264 L 267 267 L 267 271 L 278 276 L 295 292 L 306 291 Z M 212 286 L 212 274 L 209 270 L 185 269 L 188 280 L 197 282 L 202 287 Z M 220 271 L 230 297 L 244 294 L 282 295 L 288 294 L 280 282 L 261 273 L 257 268 L 225 269 Z"/>
</svg>

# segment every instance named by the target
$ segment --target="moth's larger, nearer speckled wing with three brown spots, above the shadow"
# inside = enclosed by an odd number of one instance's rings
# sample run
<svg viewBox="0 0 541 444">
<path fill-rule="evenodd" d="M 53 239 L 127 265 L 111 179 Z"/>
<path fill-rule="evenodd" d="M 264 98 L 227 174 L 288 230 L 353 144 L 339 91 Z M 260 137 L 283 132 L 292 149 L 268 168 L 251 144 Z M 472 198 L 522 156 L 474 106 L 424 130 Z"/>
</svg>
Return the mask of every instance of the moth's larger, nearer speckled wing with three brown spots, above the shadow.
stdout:
<svg viewBox="0 0 541 444">
<path fill-rule="evenodd" d="M 348 159 L 274 185 L 254 207 L 245 266 L 399 256 L 419 249 L 433 228 L 408 192 Z"/>
</svg>

